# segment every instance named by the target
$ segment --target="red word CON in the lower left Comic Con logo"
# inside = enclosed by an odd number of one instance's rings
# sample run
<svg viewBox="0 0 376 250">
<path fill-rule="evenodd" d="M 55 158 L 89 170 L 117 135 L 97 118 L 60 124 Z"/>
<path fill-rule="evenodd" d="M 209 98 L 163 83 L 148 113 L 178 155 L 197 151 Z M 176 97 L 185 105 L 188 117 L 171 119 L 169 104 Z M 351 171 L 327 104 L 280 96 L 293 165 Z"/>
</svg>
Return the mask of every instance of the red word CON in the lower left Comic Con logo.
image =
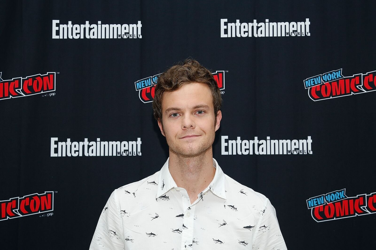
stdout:
<svg viewBox="0 0 376 250">
<path fill-rule="evenodd" d="M 33 194 L 20 198 L 21 216 L 42 213 L 53 210 L 53 192 L 45 192 L 42 195 Z"/>
</svg>

